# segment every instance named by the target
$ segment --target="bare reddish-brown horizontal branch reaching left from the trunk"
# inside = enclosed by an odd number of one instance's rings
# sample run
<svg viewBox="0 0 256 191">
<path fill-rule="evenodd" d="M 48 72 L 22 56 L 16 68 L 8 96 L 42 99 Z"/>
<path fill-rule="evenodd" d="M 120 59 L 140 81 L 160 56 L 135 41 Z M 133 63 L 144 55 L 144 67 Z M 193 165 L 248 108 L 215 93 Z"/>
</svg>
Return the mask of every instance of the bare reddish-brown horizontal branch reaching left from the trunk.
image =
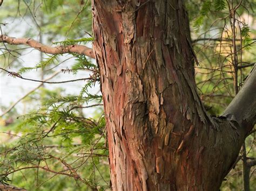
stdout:
<svg viewBox="0 0 256 191">
<path fill-rule="evenodd" d="M 0 35 L 0 43 L 8 43 L 10 45 L 28 45 L 38 51 L 48 53 L 48 54 L 64 54 L 64 53 L 78 53 L 89 56 L 90 58 L 95 58 L 92 48 L 83 45 L 68 45 L 68 46 L 46 46 L 39 43 L 36 40 L 30 38 L 14 38 L 8 37 L 6 35 Z"/>
</svg>

